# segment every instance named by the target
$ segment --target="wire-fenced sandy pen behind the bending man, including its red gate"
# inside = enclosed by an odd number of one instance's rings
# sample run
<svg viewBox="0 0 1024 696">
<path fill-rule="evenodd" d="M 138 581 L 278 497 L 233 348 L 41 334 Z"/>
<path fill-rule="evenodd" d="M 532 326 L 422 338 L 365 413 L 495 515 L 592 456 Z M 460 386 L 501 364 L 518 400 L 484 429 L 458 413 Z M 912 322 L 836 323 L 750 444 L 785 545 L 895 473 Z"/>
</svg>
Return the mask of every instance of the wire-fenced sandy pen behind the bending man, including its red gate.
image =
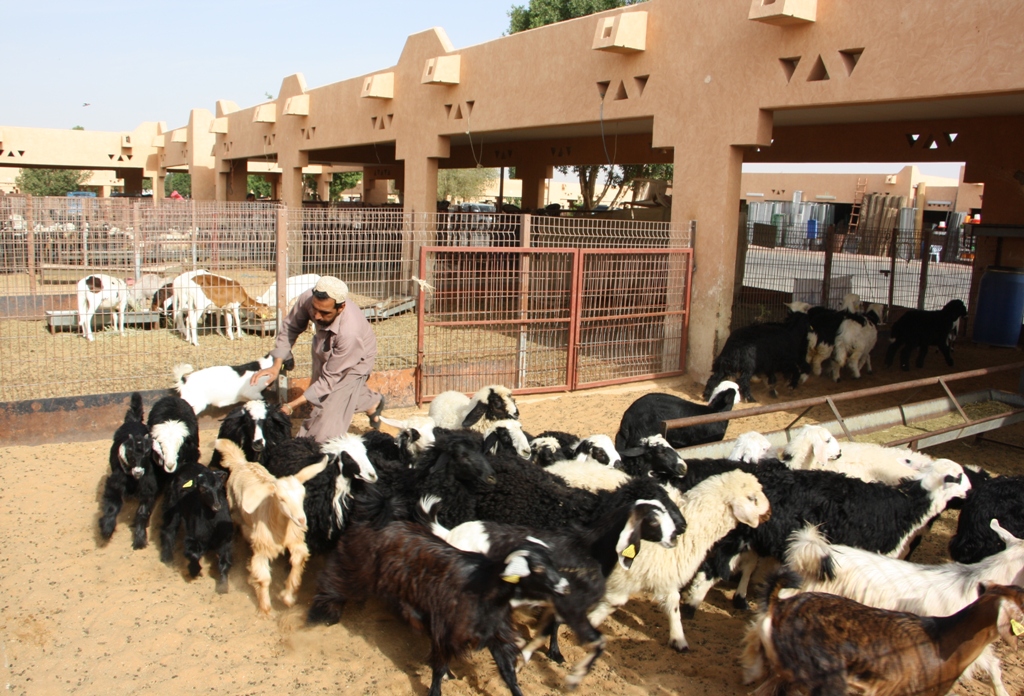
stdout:
<svg viewBox="0 0 1024 696">
<path fill-rule="evenodd" d="M 691 241 L 669 223 L 14 195 L 0 198 L 0 402 L 164 390 L 174 364 L 266 354 L 274 298 L 233 341 L 209 313 L 199 346 L 151 308 L 154 290 L 198 269 L 252 298 L 279 277 L 342 278 L 373 322 L 375 373 L 407 373 L 421 402 L 495 382 L 538 392 L 685 371 Z M 82 338 L 76 282 L 92 273 L 141 300 L 125 336 L 99 331 L 101 310 L 96 340 Z M 310 338 L 291 378 L 309 377 Z"/>
</svg>

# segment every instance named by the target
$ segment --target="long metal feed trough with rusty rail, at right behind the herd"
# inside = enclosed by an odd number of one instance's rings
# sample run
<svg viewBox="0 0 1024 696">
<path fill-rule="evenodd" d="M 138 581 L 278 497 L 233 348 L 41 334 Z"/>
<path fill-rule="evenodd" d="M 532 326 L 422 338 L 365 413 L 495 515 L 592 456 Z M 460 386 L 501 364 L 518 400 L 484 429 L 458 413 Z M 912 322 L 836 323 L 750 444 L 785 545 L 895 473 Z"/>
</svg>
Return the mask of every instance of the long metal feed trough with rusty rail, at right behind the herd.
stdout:
<svg viewBox="0 0 1024 696">
<path fill-rule="evenodd" d="M 1024 421 L 1024 395 L 1021 393 L 1021 382 L 1018 384 L 1018 392 L 1009 392 L 1000 389 L 980 389 L 966 394 L 961 394 L 959 396 L 954 396 L 947 386 L 948 382 L 985 377 L 996 373 L 1011 371 L 1019 372 L 1021 374 L 1020 379 L 1024 382 L 1024 362 L 1015 362 L 996 367 L 972 369 L 964 373 L 954 373 L 952 375 L 943 375 L 941 377 L 911 380 L 909 382 L 897 382 L 896 384 L 885 385 L 882 387 L 858 389 L 856 391 L 843 392 L 831 396 L 817 396 L 797 401 L 786 401 L 785 403 L 770 406 L 756 406 L 754 408 L 731 410 L 722 414 L 709 414 L 707 416 L 697 416 L 694 418 L 665 421 L 662 425 L 662 433 L 664 434 L 673 428 L 682 428 L 685 426 L 694 426 L 706 423 L 717 423 L 737 418 L 749 418 L 752 416 L 771 414 L 779 410 L 799 411 L 800 415 L 797 416 L 785 429 L 777 430 L 771 433 L 764 433 L 765 437 L 768 438 L 773 447 L 782 447 L 790 441 L 792 437 L 791 432 L 793 431 L 794 426 L 796 426 L 797 423 L 814 406 L 827 405 L 836 416 L 835 421 L 828 421 L 827 423 L 817 425 L 827 428 L 829 432 L 838 438 L 846 438 L 853 441 L 863 440 L 864 436 L 869 433 L 876 433 L 896 426 L 913 428 L 915 424 L 922 424 L 923 422 L 943 416 L 956 415 L 959 417 L 962 421 L 961 423 L 944 428 L 937 428 L 935 430 L 922 429 L 920 434 L 914 433 L 909 436 L 898 437 L 884 442 L 886 446 L 891 447 L 909 446 L 911 449 L 924 449 L 925 447 L 933 447 L 943 442 L 949 442 L 950 440 L 980 435 L 981 433 L 995 430 L 996 428 L 1002 428 L 1005 426 Z M 929 399 L 927 401 L 916 401 L 914 403 L 893 406 L 890 408 L 882 408 L 880 410 L 872 410 L 848 418 L 844 418 L 840 415 L 839 409 L 836 407 L 837 402 L 852 401 L 868 396 L 890 394 L 898 391 L 919 389 L 921 387 L 930 387 L 934 385 L 942 387 L 942 389 L 946 392 L 946 396 Z M 1010 410 L 976 419 L 972 419 L 968 416 L 965 410 L 965 406 L 985 401 L 996 401 L 1007 404 L 1007 406 L 1010 407 Z M 693 447 L 684 447 L 678 451 L 683 455 L 683 459 L 725 458 L 729 455 L 730 451 L 732 451 L 734 444 L 735 440 L 723 440 L 721 442 L 712 442 Z"/>
</svg>

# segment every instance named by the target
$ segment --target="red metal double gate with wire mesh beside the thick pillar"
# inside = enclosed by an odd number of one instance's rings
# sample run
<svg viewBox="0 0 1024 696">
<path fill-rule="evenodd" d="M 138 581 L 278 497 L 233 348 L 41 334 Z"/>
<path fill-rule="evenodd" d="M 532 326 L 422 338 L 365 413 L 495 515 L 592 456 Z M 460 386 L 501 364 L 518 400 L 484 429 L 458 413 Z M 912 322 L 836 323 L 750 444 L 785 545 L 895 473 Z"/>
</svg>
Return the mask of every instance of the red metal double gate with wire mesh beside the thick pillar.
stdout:
<svg viewBox="0 0 1024 696">
<path fill-rule="evenodd" d="M 517 393 L 685 371 L 692 251 L 420 250 L 417 400 L 505 384 Z"/>
</svg>

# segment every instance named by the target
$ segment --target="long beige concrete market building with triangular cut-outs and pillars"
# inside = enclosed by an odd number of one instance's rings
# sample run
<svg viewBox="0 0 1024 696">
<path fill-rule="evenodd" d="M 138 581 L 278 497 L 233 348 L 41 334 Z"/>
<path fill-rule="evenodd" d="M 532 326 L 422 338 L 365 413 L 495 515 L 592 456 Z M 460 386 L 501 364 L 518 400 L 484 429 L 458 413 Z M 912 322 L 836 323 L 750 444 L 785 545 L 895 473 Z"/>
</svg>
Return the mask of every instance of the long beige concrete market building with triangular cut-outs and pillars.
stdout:
<svg viewBox="0 0 1024 696">
<path fill-rule="evenodd" d="M 249 163 L 270 161 L 289 205 L 306 167 L 356 166 L 368 202 L 391 180 L 417 214 L 435 209 L 438 168 L 514 166 L 531 208 L 558 166 L 673 163 L 674 228 L 695 229 L 700 378 L 728 333 L 744 162 L 965 162 L 984 220 L 1024 222 L 1022 35 L 1019 0 L 649 0 L 466 48 L 430 29 L 373 74 L 315 88 L 293 75 L 274 99 L 219 101 L 172 131 L 69 131 L 57 146 L 3 128 L 0 161 L 109 157 L 126 191 L 187 168 L 194 195 L 220 201 L 244 200 Z M 99 155 L 63 161 L 86 146 Z M 983 238 L 978 259 L 1024 265 L 1024 241 Z"/>
</svg>

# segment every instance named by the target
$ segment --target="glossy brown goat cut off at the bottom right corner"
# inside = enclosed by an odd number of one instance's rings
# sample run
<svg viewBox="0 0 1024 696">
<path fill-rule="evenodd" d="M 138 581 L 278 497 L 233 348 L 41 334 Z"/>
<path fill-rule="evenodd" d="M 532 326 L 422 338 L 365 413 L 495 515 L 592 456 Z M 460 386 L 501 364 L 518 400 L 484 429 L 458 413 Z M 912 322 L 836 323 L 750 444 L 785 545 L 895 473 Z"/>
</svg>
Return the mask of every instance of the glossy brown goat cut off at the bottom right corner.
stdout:
<svg viewBox="0 0 1024 696">
<path fill-rule="evenodd" d="M 794 575 L 769 580 L 766 606 L 744 639 L 743 681 L 772 675 L 754 693 L 796 687 L 811 696 L 941 696 L 999 636 L 1017 648 L 1024 633 L 1024 589 L 982 583 L 979 597 L 951 616 L 918 616 L 824 593 L 779 599 Z"/>
</svg>

